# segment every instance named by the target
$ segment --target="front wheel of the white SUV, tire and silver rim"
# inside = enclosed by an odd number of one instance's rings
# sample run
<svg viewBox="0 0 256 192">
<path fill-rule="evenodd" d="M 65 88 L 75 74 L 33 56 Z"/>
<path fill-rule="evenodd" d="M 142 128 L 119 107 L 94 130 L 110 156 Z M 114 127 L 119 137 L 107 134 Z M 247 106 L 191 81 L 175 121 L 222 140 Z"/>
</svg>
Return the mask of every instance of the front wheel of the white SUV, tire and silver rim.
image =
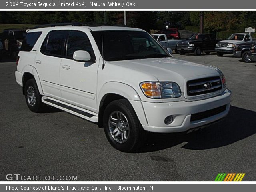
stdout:
<svg viewBox="0 0 256 192">
<path fill-rule="evenodd" d="M 146 132 L 126 99 L 112 101 L 106 106 L 103 126 L 108 142 L 122 152 L 135 152 L 144 141 Z"/>
</svg>

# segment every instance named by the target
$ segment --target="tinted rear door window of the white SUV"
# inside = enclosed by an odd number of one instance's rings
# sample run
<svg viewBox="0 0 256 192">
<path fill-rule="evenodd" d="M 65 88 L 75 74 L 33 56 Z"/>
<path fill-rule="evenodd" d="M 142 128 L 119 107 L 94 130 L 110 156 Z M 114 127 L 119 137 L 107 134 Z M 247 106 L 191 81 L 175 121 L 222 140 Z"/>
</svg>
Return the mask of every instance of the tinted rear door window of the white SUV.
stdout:
<svg viewBox="0 0 256 192">
<path fill-rule="evenodd" d="M 42 44 L 41 52 L 51 56 L 62 56 L 66 34 L 67 31 L 64 30 L 51 31 Z"/>
</svg>

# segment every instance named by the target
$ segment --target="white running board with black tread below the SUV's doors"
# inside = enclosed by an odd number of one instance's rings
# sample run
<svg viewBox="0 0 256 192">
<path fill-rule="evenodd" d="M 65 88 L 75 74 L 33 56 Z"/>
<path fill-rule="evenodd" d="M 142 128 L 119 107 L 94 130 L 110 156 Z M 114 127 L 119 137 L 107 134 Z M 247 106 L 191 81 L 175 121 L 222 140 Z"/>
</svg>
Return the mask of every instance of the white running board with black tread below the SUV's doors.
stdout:
<svg viewBox="0 0 256 192">
<path fill-rule="evenodd" d="M 66 111 L 75 116 L 81 117 L 83 119 L 86 119 L 92 122 L 98 122 L 98 115 L 96 113 L 85 110 L 83 108 L 62 102 L 54 98 L 46 97 L 46 96 L 42 97 L 42 102 L 50 106 L 53 106 L 55 108 Z"/>
</svg>

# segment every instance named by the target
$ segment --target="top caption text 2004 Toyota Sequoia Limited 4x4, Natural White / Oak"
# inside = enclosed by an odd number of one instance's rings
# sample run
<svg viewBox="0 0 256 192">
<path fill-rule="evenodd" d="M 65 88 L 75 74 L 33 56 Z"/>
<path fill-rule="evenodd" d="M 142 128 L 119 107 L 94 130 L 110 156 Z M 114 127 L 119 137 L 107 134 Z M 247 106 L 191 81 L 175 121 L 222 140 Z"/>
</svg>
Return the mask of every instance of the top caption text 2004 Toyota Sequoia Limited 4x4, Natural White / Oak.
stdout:
<svg viewBox="0 0 256 192">
<path fill-rule="evenodd" d="M 135 7 L 134 2 L 6 2 L 7 7 Z"/>
</svg>

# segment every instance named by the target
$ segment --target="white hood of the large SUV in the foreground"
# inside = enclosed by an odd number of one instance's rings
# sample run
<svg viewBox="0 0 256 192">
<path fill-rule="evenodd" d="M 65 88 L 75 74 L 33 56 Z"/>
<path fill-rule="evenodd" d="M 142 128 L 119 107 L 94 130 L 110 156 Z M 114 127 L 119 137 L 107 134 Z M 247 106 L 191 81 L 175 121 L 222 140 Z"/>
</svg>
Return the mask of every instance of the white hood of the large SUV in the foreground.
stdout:
<svg viewBox="0 0 256 192">
<path fill-rule="evenodd" d="M 159 81 L 179 81 L 178 83 L 181 84 L 184 83 L 184 79 L 192 78 L 195 76 L 204 76 L 208 74 L 214 74 L 218 76 L 218 72 L 211 66 L 196 64 L 175 58 L 125 60 L 114 61 L 110 63 L 129 68 L 130 70 L 134 70 L 136 72 L 143 72 L 147 75 L 152 75 Z"/>
</svg>

